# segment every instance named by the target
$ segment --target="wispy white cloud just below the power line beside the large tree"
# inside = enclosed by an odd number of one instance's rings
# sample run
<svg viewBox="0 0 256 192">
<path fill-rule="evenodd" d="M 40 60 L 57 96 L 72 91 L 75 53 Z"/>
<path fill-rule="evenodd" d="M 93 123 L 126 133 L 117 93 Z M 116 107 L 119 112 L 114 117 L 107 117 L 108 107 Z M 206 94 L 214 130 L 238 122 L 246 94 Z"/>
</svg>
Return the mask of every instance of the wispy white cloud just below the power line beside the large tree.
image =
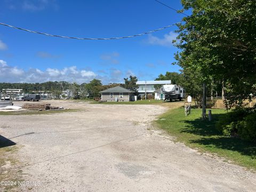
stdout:
<svg viewBox="0 0 256 192">
<path fill-rule="evenodd" d="M 177 33 L 170 31 L 169 34 L 165 34 L 163 38 L 156 37 L 152 34 L 148 35 L 147 43 L 151 45 L 162 45 L 162 46 L 172 46 L 172 41 L 178 36 Z"/>
</svg>

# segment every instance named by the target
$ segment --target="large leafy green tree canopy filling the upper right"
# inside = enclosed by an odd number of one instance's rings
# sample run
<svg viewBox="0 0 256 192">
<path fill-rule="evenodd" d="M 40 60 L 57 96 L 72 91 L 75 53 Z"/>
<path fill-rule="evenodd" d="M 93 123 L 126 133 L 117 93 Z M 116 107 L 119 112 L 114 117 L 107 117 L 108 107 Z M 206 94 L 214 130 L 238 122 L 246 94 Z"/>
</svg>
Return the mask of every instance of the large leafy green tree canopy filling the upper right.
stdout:
<svg viewBox="0 0 256 192">
<path fill-rule="evenodd" d="M 192 14 L 178 24 L 178 65 L 201 73 L 203 82 L 223 82 L 228 107 L 251 99 L 256 94 L 255 1 L 182 0 L 182 5 Z"/>
</svg>

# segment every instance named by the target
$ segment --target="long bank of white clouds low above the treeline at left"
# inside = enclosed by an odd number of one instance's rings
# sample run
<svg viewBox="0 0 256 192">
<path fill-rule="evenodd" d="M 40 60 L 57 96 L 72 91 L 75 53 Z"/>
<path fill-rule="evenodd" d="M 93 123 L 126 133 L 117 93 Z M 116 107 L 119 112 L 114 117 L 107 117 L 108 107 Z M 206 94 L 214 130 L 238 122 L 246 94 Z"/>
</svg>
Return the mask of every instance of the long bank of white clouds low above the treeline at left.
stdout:
<svg viewBox="0 0 256 192">
<path fill-rule="evenodd" d="M 46 70 L 30 68 L 25 71 L 18 67 L 9 66 L 6 61 L 0 60 L 0 82 L 40 83 L 47 81 L 67 81 L 87 83 L 93 78 L 99 78 L 99 76 L 91 70 L 79 70 L 76 66 L 62 69 L 47 68 Z"/>
</svg>

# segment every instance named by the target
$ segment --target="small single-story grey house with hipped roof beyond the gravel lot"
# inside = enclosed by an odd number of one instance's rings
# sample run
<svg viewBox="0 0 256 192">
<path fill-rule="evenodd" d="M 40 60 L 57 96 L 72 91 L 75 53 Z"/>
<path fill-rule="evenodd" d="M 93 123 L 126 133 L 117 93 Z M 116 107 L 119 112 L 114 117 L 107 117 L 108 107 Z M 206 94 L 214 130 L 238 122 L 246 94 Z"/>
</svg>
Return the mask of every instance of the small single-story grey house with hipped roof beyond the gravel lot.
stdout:
<svg viewBox="0 0 256 192">
<path fill-rule="evenodd" d="M 121 86 L 112 87 L 110 89 L 100 91 L 102 101 L 131 101 L 133 92 L 131 90 L 124 89 Z"/>
</svg>

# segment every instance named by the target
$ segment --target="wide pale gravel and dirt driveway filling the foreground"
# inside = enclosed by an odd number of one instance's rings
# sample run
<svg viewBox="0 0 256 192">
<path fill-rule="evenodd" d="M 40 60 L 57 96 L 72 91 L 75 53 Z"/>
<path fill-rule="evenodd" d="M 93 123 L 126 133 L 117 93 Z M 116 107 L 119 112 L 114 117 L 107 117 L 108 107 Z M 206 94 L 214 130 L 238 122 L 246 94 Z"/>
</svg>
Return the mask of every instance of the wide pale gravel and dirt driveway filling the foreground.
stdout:
<svg viewBox="0 0 256 192">
<path fill-rule="evenodd" d="M 150 124 L 167 108 L 90 105 L 51 115 L 1 116 L 0 132 L 17 143 L 23 191 L 255 191 L 256 175 L 201 155 Z M 31 133 L 31 134 L 26 134 Z M 26 135 L 23 135 L 26 134 Z M 19 136 L 20 135 L 20 136 Z M 1 188 L 0 188 L 1 190 Z"/>
</svg>

